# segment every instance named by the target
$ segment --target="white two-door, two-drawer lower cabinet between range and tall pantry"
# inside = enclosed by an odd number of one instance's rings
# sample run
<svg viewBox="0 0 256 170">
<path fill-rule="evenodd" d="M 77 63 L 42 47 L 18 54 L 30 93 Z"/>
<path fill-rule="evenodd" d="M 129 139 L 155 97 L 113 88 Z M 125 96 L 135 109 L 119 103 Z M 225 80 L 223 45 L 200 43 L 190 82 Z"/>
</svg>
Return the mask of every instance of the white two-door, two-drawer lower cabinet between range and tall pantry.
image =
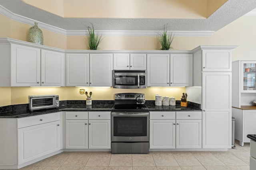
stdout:
<svg viewBox="0 0 256 170">
<path fill-rule="evenodd" d="M 150 149 L 202 148 L 201 111 L 150 111 Z"/>
</svg>

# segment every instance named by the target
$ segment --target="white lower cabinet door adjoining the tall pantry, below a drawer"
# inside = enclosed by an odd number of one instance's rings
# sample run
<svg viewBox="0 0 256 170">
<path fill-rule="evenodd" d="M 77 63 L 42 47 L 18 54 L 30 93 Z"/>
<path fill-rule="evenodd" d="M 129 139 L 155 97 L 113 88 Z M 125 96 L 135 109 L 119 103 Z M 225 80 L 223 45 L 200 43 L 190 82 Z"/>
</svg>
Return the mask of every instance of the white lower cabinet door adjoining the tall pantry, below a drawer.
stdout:
<svg viewBox="0 0 256 170">
<path fill-rule="evenodd" d="M 202 148 L 202 120 L 176 120 L 176 148 Z"/>
</svg>

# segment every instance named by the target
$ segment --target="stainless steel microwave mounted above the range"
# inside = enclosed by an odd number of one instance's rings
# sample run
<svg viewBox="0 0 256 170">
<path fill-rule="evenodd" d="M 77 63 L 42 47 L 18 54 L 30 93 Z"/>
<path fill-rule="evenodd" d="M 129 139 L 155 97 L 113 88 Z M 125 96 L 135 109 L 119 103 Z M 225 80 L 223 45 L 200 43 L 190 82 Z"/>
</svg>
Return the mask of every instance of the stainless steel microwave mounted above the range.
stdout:
<svg viewBox="0 0 256 170">
<path fill-rule="evenodd" d="M 113 88 L 146 88 L 146 70 L 113 70 Z"/>
</svg>

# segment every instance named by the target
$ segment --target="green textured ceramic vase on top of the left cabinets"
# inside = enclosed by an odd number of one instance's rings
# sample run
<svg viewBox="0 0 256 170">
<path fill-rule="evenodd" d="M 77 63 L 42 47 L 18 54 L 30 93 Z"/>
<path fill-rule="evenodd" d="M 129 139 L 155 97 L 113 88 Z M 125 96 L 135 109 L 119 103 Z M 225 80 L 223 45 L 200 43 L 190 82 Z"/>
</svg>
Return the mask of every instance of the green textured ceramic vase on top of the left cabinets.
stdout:
<svg viewBox="0 0 256 170">
<path fill-rule="evenodd" d="M 35 25 L 33 27 L 30 27 L 30 29 L 28 30 L 28 42 L 43 45 L 43 32 L 40 28 L 38 28 L 37 24 L 38 23 L 35 22 Z"/>
</svg>

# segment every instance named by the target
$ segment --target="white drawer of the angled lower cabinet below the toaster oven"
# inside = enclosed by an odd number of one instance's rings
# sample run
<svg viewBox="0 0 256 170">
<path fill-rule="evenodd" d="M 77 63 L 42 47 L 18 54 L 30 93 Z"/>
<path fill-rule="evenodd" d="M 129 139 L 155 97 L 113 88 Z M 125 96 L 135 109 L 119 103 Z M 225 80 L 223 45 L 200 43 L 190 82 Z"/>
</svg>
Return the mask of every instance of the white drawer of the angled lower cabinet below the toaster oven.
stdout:
<svg viewBox="0 0 256 170">
<path fill-rule="evenodd" d="M 48 123 L 48 122 L 58 121 L 58 120 L 60 120 L 60 112 L 19 118 L 17 122 L 18 122 L 18 129 L 19 129 L 22 127 L 40 125 L 43 123 Z"/>
</svg>

